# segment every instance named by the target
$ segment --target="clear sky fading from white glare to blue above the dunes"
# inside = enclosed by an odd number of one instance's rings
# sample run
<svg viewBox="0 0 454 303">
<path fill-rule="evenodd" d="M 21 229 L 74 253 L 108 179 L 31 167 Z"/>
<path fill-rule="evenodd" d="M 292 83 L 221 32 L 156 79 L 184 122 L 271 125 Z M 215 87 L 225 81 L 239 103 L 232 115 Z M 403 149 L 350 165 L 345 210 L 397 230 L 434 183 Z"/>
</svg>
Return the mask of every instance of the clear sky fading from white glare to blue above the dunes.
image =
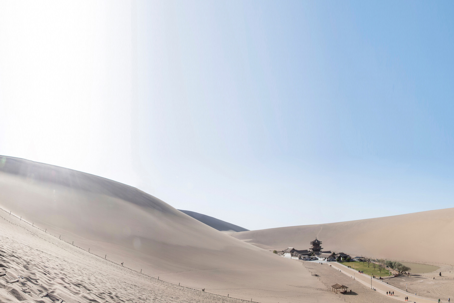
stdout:
<svg viewBox="0 0 454 303">
<path fill-rule="evenodd" d="M 248 229 L 453 207 L 452 1 L 0 1 L 0 154 Z"/>
</svg>

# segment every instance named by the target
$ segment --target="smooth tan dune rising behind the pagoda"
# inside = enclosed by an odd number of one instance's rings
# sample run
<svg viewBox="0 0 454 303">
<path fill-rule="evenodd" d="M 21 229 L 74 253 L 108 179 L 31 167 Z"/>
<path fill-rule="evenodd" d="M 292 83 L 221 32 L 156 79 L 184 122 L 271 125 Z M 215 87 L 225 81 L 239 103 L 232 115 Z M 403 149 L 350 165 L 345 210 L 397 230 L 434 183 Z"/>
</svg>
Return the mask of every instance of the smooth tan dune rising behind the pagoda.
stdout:
<svg viewBox="0 0 454 303">
<path fill-rule="evenodd" d="M 413 262 L 452 263 L 454 208 L 348 222 L 301 225 L 233 233 L 264 249 L 322 247 L 351 255 Z"/>
</svg>

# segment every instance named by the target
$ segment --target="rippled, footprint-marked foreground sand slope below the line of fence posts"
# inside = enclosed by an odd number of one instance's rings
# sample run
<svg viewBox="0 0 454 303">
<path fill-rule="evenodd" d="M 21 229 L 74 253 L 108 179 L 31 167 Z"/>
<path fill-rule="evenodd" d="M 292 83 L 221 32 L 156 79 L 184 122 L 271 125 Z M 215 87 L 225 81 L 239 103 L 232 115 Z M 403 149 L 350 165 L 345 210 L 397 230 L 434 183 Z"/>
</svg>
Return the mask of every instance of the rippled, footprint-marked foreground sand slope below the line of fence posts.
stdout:
<svg viewBox="0 0 454 303">
<path fill-rule="evenodd" d="M 6 273 L 0 277 L 0 302 L 244 302 L 150 278 L 59 240 L 3 211 L 0 230 L 0 272 Z M 19 281 L 6 282 L 15 279 Z"/>
</svg>

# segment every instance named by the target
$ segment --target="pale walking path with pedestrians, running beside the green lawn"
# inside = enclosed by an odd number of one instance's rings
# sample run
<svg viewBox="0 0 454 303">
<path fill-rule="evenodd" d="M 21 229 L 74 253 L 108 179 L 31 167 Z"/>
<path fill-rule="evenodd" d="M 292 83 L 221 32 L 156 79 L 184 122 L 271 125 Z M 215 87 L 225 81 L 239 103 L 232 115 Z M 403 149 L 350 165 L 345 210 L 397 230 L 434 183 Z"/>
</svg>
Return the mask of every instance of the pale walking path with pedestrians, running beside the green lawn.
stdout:
<svg viewBox="0 0 454 303">
<path fill-rule="evenodd" d="M 383 282 L 383 280 L 378 280 L 374 278 L 370 278 L 369 275 L 365 273 L 358 273 L 357 270 L 353 268 L 348 268 L 345 265 L 342 265 L 337 262 L 327 262 L 328 264 L 331 265 L 331 267 L 336 268 L 340 270 L 342 273 L 345 273 L 347 276 L 354 277 L 355 280 L 358 280 L 360 283 L 363 283 L 367 287 L 375 288 L 376 291 L 379 293 L 382 293 L 383 295 L 386 295 L 386 292 L 392 291 L 394 292 L 394 296 L 390 296 L 396 300 L 399 301 L 405 301 L 405 297 L 408 297 L 408 302 L 416 302 L 416 303 L 434 303 L 438 302 L 438 300 L 435 299 L 430 299 L 430 298 L 425 298 L 421 297 L 412 293 L 407 293 L 404 290 L 401 290 L 397 287 L 394 287 L 390 284 L 387 284 L 386 282 Z M 371 284 L 372 283 L 372 284 Z M 447 300 L 445 301 L 440 301 L 440 302 L 448 302 Z"/>
</svg>

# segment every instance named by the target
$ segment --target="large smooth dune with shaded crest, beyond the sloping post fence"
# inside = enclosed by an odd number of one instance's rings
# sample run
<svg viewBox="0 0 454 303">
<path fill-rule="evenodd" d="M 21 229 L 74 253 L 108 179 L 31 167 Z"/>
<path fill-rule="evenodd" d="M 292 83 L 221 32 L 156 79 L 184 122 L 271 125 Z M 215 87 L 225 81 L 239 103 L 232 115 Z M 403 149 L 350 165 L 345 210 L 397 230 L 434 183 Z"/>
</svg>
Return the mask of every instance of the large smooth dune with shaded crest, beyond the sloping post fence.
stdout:
<svg viewBox="0 0 454 303">
<path fill-rule="evenodd" d="M 260 302 L 338 300 L 301 263 L 232 238 L 112 180 L 6 158 L 0 168 L 0 193 L 4 209 L 39 228 L 173 283 Z M 53 262 L 46 257 L 41 263 L 60 271 L 53 275 L 66 273 Z"/>
</svg>

